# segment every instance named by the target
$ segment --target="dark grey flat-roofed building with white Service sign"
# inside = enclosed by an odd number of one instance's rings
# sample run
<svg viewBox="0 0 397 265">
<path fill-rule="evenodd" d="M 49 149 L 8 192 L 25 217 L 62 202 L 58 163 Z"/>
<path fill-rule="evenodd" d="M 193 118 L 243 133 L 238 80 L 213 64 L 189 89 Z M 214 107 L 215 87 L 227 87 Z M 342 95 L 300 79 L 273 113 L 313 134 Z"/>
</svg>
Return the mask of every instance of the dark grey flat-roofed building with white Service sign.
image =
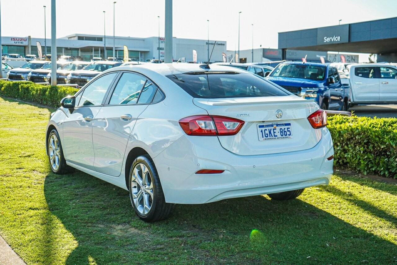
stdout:
<svg viewBox="0 0 397 265">
<path fill-rule="evenodd" d="M 288 51 L 377 54 L 378 61 L 397 62 L 397 17 L 278 33 L 281 58 Z"/>
</svg>

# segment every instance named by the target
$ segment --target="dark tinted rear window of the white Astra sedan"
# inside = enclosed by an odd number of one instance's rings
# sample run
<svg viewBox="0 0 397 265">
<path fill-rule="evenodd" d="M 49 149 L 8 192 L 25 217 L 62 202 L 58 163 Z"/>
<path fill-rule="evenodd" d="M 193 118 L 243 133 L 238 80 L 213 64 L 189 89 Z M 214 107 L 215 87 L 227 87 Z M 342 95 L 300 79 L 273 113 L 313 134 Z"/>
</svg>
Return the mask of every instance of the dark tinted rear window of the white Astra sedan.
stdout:
<svg viewBox="0 0 397 265">
<path fill-rule="evenodd" d="M 167 76 L 192 97 L 270 97 L 287 92 L 253 74 L 237 72 L 193 72 Z"/>
</svg>

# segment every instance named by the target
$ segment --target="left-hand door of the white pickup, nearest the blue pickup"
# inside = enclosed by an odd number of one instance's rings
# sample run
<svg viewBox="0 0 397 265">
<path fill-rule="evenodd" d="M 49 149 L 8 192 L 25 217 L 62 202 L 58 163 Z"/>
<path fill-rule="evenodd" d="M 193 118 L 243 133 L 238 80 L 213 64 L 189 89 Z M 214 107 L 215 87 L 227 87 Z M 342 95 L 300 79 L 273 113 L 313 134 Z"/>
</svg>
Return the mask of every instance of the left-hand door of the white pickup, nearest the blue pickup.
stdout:
<svg viewBox="0 0 397 265">
<path fill-rule="evenodd" d="M 353 102 L 379 101 L 379 78 L 375 66 L 353 66 L 350 71 Z"/>
</svg>

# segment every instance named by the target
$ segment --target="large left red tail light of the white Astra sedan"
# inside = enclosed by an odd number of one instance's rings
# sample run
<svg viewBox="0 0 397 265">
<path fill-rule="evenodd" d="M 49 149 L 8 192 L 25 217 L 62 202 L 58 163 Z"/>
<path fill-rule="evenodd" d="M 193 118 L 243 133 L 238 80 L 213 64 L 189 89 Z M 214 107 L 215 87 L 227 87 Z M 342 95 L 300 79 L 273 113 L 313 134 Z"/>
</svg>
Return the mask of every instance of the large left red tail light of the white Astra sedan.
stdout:
<svg viewBox="0 0 397 265">
<path fill-rule="evenodd" d="M 224 116 L 197 115 L 179 120 L 179 125 L 187 135 L 235 135 L 243 127 L 244 121 Z"/>
</svg>

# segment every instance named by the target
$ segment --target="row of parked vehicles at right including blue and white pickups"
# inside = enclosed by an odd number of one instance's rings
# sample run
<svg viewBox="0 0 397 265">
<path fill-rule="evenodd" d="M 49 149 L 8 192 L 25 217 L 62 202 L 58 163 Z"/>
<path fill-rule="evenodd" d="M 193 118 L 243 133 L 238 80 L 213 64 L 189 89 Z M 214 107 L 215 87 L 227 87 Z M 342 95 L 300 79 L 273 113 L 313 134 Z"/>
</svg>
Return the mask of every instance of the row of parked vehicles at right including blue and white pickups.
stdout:
<svg viewBox="0 0 397 265">
<path fill-rule="evenodd" d="M 283 61 L 273 70 L 260 64 L 214 63 L 254 72 L 285 90 L 314 100 L 322 109 L 346 111 L 358 104 L 397 103 L 397 66 L 388 63 Z M 268 68 L 270 66 L 267 66 Z"/>
</svg>

